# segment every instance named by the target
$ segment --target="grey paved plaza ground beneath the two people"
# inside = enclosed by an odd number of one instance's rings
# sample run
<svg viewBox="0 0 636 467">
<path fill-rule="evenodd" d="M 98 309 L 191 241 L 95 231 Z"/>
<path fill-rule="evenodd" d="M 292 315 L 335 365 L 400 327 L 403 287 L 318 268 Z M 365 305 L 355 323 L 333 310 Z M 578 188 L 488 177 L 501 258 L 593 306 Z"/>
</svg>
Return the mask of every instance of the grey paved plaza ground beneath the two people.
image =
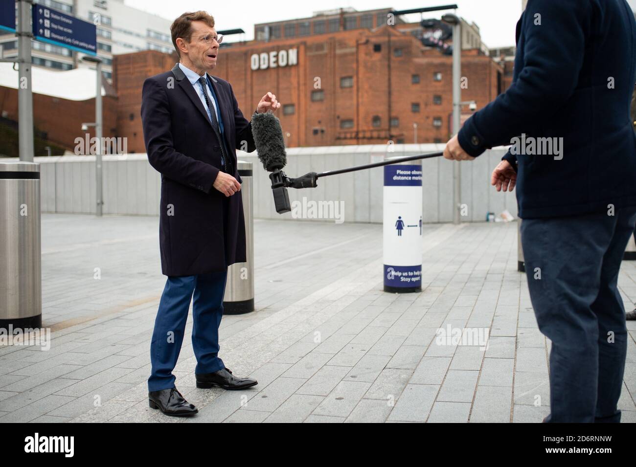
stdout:
<svg viewBox="0 0 636 467">
<path fill-rule="evenodd" d="M 418 294 L 382 291 L 382 226 L 256 220 L 256 311 L 225 316 L 221 358 L 259 384 L 195 387 L 186 328 L 177 388 L 195 417 L 148 407 L 149 346 L 165 278 L 156 217 L 42 218 L 51 348 L 0 347 L 2 422 L 540 422 L 548 352 L 516 223 L 425 225 Z M 623 262 L 626 308 L 636 264 Z M 440 344 L 438 328 L 488 330 Z M 619 408 L 636 421 L 636 322 Z M 471 345 L 464 345 L 471 344 Z"/>
</svg>

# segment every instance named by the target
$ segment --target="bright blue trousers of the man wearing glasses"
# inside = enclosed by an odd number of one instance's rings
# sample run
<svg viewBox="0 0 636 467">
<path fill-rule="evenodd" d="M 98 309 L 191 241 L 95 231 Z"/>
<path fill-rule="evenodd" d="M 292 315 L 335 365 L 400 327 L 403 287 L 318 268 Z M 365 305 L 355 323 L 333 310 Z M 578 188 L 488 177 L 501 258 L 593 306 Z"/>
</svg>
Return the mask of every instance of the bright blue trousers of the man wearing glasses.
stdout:
<svg viewBox="0 0 636 467">
<path fill-rule="evenodd" d="M 181 351 L 193 296 L 192 348 L 197 357 L 195 373 L 212 373 L 225 368 L 218 354 L 226 278 L 227 270 L 223 273 L 167 278 L 150 344 L 152 371 L 148 379 L 148 391 L 175 387 L 172 370 Z"/>
</svg>

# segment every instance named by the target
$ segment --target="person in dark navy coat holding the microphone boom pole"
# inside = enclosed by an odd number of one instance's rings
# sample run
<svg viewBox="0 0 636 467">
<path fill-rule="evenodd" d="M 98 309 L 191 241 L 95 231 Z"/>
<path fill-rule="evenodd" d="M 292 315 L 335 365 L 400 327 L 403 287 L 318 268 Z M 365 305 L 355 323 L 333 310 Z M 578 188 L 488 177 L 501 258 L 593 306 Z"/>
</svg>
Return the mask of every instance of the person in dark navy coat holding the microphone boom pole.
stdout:
<svg viewBox="0 0 636 467">
<path fill-rule="evenodd" d="M 628 334 L 616 282 L 636 224 L 636 22 L 625 0 L 529 0 L 516 44 L 513 84 L 444 156 L 513 144 L 491 182 L 517 188 L 530 299 L 552 341 L 544 421 L 619 422 Z"/>
</svg>

